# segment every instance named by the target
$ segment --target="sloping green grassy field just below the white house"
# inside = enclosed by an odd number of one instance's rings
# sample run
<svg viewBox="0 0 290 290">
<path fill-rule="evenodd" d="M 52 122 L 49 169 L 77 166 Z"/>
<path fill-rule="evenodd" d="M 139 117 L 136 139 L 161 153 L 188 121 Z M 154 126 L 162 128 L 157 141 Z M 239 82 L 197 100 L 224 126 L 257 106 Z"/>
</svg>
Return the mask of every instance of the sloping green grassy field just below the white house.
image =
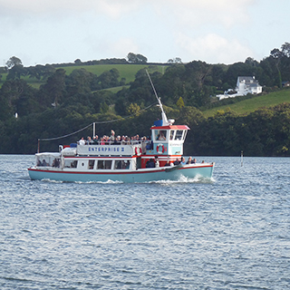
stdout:
<svg viewBox="0 0 290 290">
<path fill-rule="evenodd" d="M 225 110 L 230 108 L 236 111 L 237 114 L 248 114 L 252 111 L 256 111 L 259 108 L 275 106 L 282 102 L 290 102 L 290 90 L 282 90 L 279 92 L 270 92 L 265 95 L 256 96 L 253 99 L 248 99 L 242 102 L 236 102 L 225 106 L 220 106 L 214 109 L 203 111 L 204 115 L 208 117 L 214 116 L 219 110 Z"/>
</svg>

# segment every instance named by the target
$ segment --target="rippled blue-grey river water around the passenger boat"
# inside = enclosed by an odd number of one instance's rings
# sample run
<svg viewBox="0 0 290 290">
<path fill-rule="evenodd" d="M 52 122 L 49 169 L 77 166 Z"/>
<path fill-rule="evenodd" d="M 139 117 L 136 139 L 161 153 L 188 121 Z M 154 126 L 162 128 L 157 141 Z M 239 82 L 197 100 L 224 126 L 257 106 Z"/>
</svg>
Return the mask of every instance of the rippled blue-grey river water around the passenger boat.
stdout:
<svg viewBox="0 0 290 290">
<path fill-rule="evenodd" d="M 289 289 L 289 159 L 201 159 L 213 179 L 100 184 L 0 155 L 0 289 Z"/>
</svg>

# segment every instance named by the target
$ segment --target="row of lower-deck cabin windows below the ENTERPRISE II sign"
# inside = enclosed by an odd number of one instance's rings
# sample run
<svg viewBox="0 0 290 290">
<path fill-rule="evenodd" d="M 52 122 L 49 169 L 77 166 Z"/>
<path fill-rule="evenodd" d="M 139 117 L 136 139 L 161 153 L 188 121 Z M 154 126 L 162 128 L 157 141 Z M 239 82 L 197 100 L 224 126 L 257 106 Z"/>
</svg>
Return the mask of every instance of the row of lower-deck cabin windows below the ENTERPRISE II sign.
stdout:
<svg viewBox="0 0 290 290">
<path fill-rule="evenodd" d="M 81 162 L 81 169 L 130 169 L 131 160 L 64 160 L 64 168 L 76 169 L 78 162 Z M 87 168 L 85 168 L 87 164 Z M 113 168 L 112 168 L 113 165 Z M 79 166 L 80 167 L 80 166 Z"/>
</svg>

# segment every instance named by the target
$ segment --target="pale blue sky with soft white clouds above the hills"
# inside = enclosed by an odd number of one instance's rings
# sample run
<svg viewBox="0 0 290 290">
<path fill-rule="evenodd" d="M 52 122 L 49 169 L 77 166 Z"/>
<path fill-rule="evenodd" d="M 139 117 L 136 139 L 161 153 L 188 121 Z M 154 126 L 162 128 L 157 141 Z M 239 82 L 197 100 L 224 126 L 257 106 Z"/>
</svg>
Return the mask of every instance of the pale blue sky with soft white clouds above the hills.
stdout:
<svg viewBox="0 0 290 290">
<path fill-rule="evenodd" d="M 290 43 L 289 0 L 0 0 L 0 66 L 126 58 L 261 61 Z M 288 37 L 288 38 L 287 38 Z"/>
</svg>

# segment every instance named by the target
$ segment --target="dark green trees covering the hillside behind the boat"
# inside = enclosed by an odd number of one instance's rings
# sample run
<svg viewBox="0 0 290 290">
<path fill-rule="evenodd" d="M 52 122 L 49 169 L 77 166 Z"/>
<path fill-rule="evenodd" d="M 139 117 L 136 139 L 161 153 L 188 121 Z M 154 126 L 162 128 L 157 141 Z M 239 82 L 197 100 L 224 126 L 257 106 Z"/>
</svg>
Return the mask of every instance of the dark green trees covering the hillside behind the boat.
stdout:
<svg viewBox="0 0 290 290">
<path fill-rule="evenodd" d="M 11 77 L 7 76 L 0 89 L 0 153 L 34 153 L 38 139 L 63 136 L 92 122 L 97 123 L 99 136 L 111 129 L 117 134 L 148 136 L 153 121 L 160 118 L 144 69 L 136 73 L 129 88 L 113 93 L 104 89 L 126 83 L 116 69 L 98 76 L 84 69 L 66 75 L 65 70 L 50 67 L 44 76 L 43 68 L 36 65 L 34 77 L 45 81 L 34 89 L 16 73 L 22 63 L 13 61 L 8 73 Z M 242 117 L 234 111 L 219 111 L 208 119 L 203 116 L 201 110 L 218 103 L 215 94 L 234 88 L 239 75 L 255 75 L 266 91 L 281 88 L 283 81 L 290 80 L 290 44 L 274 49 L 259 63 L 251 58 L 231 65 L 177 62 L 164 73 L 151 73 L 168 116 L 191 128 L 186 154 L 238 155 L 244 150 L 248 156 L 288 155 L 289 104 Z M 43 142 L 43 150 L 55 150 L 58 143 L 73 142 L 81 135 L 92 135 L 92 130 Z"/>
</svg>

